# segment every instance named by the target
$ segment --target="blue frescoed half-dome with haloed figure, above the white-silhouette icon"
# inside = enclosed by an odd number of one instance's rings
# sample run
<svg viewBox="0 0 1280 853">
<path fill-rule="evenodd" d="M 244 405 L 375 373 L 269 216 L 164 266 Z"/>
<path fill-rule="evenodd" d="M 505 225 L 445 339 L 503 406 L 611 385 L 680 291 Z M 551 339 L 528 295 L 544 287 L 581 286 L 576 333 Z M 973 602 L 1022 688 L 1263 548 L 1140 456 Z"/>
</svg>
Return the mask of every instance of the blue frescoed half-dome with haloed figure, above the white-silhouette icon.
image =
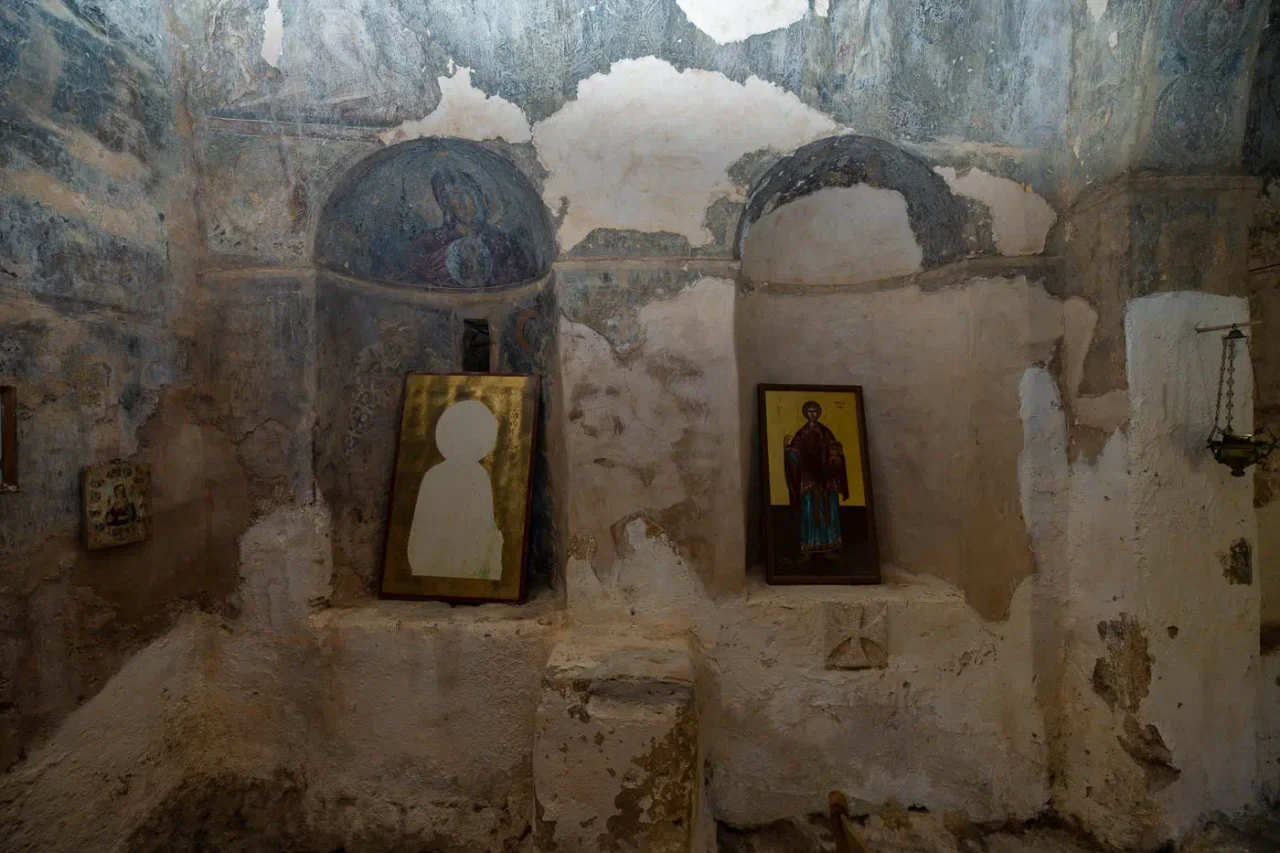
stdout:
<svg viewBox="0 0 1280 853">
<path fill-rule="evenodd" d="M 330 193 L 315 264 L 433 291 L 492 291 L 547 274 L 550 215 L 511 161 L 474 142 L 425 138 L 353 167 Z"/>
</svg>

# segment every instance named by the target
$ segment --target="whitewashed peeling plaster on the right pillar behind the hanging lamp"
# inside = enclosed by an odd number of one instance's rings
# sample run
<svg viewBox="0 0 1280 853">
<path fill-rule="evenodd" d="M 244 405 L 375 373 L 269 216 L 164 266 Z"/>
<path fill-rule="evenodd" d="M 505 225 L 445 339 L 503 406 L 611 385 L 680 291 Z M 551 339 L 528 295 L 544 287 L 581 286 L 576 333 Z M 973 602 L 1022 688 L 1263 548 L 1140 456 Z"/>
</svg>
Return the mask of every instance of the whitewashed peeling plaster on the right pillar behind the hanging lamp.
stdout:
<svg viewBox="0 0 1280 853">
<path fill-rule="evenodd" d="M 1244 316 L 1243 300 L 1202 293 L 1130 301 L 1128 432 L 1053 464 L 1064 497 L 1030 493 L 1062 555 L 1044 576 L 1044 629 L 1065 651 L 1042 667 L 1059 703 L 1053 799 L 1116 847 L 1155 847 L 1208 803 L 1230 813 L 1254 797 L 1258 592 L 1224 571 L 1256 537 L 1252 488 L 1201 450 L 1220 345 L 1194 334 Z"/>
</svg>

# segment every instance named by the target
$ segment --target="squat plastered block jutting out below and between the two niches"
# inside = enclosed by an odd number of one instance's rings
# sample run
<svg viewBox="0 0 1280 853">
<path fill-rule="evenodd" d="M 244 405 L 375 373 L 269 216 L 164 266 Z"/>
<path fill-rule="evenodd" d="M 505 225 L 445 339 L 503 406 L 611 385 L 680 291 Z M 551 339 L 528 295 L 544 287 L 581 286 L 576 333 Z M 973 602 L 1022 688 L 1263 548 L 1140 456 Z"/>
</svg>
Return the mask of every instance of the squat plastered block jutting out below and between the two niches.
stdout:
<svg viewBox="0 0 1280 853">
<path fill-rule="evenodd" d="M 689 850 L 698 795 L 689 649 L 567 637 L 543 680 L 534 795 L 538 850 Z"/>
</svg>

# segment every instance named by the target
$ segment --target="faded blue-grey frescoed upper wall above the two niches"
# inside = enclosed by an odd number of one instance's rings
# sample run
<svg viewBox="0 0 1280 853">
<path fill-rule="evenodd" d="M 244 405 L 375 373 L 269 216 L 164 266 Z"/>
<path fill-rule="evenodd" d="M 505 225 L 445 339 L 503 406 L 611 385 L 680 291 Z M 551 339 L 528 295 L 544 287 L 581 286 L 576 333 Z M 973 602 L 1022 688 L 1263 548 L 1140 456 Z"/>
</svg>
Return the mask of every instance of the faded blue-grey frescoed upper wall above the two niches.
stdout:
<svg viewBox="0 0 1280 853">
<path fill-rule="evenodd" d="M 261 56 L 265 5 L 201 0 L 175 12 L 202 115 L 394 126 L 436 109 L 438 78 L 456 63 L 474 69 L 476 88 L 536 123 L 593 74 L 652 56 L 737 83 L 754 74 L 865 133 L 1019 147 L 1062 138 L 1066 4 L 859 0 L 818 3 L 806 14 L 805 3 L 753 1 L 728 18 L 705 1 L 684 6 L 504 0 L 365 9 L 297 0 L 282 5 L 279 69 Z"/>
</svg>

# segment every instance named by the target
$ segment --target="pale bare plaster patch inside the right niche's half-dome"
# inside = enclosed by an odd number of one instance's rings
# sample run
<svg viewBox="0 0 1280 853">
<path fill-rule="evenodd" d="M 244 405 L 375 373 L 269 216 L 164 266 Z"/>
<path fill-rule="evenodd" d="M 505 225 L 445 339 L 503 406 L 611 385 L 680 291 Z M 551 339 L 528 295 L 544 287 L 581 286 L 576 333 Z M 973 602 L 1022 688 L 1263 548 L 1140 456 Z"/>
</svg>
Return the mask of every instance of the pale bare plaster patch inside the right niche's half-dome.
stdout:
<svg viewBox="0 0 1280 853">
<path fill-rule="evenodd" d="M 758 282 L 851 284 L 920 270 L 924 251 L 895 190 L 826 187 L 768 213 L 742 247 Z"/>
</svg>

